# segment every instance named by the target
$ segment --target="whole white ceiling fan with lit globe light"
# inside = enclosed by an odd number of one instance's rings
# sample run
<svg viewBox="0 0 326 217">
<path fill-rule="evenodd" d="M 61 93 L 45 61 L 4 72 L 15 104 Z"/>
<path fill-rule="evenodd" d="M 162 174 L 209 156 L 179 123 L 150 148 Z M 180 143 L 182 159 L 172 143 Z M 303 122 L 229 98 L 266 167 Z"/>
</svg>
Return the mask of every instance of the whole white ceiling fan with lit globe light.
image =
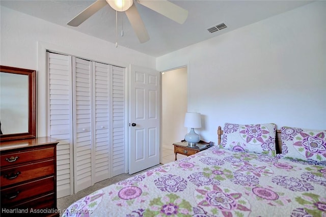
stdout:
<svg viewBox="0 0 326 217">
<path fill-rule="evenodd" d="M 161 15 L 168 17 L 180 24 L 184 23 L 187 19 L 188 11 L 167 1 L 167 0 L 135 0 L 138 4 L 141 4 Z M 103 8 L 106 4 L 109 4 L 116 11 L 124 11 L 130 21 L 130 24 L 137 35 L 140 43 L 147 42 L 149 36 L 145 27 L 145 24 L 138 13 L 133 0 L 97 0 L 84 11 L 80 12 L 67 24 L 70 26 L 78 26 L 85 20 Z"/>
</svg>

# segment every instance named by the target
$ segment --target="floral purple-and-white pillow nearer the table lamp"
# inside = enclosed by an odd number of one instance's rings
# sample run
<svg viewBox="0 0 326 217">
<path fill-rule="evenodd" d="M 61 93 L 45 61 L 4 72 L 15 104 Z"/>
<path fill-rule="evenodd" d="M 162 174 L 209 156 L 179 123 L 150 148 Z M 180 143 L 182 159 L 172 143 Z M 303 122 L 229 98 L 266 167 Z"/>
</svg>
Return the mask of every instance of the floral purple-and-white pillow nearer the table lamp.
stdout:
<svg viewBox="0 0 326 217">
<path fill-rule="evenodd" d="M 246 151 L 276 156 L 276 125 L 263 123 L 257 125 L 237 125 L 225 123 L 221 148 L 233 151 Z"/>
</svg>

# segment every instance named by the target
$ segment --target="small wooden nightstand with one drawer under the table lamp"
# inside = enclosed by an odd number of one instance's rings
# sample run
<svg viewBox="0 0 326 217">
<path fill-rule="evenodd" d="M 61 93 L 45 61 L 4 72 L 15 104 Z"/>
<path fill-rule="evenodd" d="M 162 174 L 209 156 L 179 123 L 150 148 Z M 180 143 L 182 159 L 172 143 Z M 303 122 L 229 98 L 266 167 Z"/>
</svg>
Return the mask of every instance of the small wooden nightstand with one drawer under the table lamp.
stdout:
<svg viewBox="0 0 326 217">
<path fill-rule="evenodd" d="M 188 146 L 188 142 L 182 140 L 181 142 L 173 143 L 174 145 L 174 154 L 175 154 L 175 161 L 177 160 L 177 153 L 191 156 L 192 154 L 198 153 L 199 151 L 205 150 L 214 145 L 213 142 L 204 142 L 199 141 L 196 143 L 196 147 Z"/>
</svg>

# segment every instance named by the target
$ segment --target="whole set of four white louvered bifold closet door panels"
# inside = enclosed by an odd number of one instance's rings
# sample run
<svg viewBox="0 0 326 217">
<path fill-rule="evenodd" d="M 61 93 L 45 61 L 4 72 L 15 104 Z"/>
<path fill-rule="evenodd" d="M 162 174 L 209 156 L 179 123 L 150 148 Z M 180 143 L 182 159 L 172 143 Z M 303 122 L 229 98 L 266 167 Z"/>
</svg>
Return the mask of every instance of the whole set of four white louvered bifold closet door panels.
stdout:
<svg viewBox="0 0 326 217">
<path fill-rule="evenodd" d="M 48 52 L 58 197 L 125 172 L 124 69 Z"/>
</svg>

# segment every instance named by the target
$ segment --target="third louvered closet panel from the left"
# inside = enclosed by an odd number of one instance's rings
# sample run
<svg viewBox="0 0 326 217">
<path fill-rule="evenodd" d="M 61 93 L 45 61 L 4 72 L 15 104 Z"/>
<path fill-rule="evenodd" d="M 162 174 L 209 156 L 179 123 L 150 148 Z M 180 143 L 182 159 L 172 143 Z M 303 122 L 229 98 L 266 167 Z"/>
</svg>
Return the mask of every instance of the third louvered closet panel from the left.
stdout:
<svg viewBox="0 0 326 217">
<path fill-rule="evenodd" d="M 111 177 L 111 74 L 112 66 L 93 63 L 94 183 Z"/>
</svg>

